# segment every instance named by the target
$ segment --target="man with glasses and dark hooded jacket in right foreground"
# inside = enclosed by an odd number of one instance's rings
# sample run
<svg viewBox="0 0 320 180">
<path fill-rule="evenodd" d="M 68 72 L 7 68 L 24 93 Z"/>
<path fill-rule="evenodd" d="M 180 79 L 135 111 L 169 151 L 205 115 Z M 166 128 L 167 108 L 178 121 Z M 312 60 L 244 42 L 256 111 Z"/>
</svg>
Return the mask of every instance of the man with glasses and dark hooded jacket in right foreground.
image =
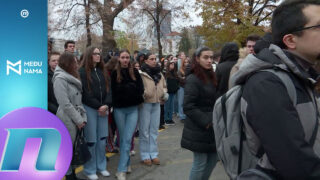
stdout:
<svg viewBox="0 0 320 180">
<path fill-rule="evenodd" d="M 320 104 L 314 91 L 319 76 L 313 68 L 320 61 L 319 14 L 319 0 L 284 1 L 272 18 L 274 44 L 249 55 L 233 76 L 233 85 L 243 87 L 242 145 L 257 158 L 251 169 L 241 169 L 239 180 L 320 179 Z M 217 140 L 218 128 L 215 133 Z"/>
</svg>

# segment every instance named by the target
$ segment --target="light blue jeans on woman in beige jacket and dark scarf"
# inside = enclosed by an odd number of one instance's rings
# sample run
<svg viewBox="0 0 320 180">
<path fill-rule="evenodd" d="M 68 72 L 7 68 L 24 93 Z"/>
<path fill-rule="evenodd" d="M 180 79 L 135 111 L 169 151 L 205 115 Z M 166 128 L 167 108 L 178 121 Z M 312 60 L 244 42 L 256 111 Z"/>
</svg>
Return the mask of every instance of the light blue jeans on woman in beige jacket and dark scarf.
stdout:
<svg viewBox="0 0 320 180">
<path fill-rule="evenodd" d="M 139 143 L 142 160 L 158 157 L 160 103 L 143 103 L 139 111 Z"/>
</svg>

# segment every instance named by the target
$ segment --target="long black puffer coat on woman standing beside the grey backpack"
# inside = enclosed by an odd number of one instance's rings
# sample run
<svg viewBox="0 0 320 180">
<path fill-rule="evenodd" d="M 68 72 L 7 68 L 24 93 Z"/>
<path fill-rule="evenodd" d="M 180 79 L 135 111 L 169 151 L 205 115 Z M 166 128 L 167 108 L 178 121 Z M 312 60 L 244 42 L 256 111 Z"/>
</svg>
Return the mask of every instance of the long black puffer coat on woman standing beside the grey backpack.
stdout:
<svg viewBox="0 0 320 180">
<path fill-rule="evenodd" d="M 216 88 L 204 84 L 194 74 L 187 77 L 184 89 L 183 109 L 187 118 L 184 123 L 181 147 L 193 152 L 216 152 L 212 123 L 212 109 Z"/>
</svg>

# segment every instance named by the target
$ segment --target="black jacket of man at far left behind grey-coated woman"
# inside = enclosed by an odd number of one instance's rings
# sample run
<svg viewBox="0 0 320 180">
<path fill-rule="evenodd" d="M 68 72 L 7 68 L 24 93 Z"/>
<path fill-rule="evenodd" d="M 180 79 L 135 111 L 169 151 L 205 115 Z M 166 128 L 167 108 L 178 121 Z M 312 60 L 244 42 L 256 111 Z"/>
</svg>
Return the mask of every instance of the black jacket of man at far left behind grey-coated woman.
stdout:
<svg viewBox="0 0 320 180">
<path fill-rule="evenodd" d="M 54 91 L 53 91 L 53 83 L 52 83 L 52 77 L 53 77 L 54 72 L 49 68 L 48 69 L 48 110 L 56 114 L 58 110 L 58 102 L 56 97 L 54 96 Z"/>
</svg>

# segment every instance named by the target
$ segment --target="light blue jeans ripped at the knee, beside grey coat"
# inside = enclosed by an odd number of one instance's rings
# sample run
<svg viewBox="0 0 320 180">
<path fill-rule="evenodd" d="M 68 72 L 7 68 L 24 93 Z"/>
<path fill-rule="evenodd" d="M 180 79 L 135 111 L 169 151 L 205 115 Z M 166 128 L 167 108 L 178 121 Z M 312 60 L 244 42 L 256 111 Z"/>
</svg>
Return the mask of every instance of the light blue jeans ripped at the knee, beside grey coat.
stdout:
<svg viewBox="0 0 320 180">
<path fill-rule="evenodd" d="M 84 136 L 91 153 L 91 159 L 84 164 L 88 175 L 107 169 L 106 137 L 108 136 L 108 116 L 99 116 L 98 111 L 84 105 L 87 111 L 87 125 Z"/>
</svg>

